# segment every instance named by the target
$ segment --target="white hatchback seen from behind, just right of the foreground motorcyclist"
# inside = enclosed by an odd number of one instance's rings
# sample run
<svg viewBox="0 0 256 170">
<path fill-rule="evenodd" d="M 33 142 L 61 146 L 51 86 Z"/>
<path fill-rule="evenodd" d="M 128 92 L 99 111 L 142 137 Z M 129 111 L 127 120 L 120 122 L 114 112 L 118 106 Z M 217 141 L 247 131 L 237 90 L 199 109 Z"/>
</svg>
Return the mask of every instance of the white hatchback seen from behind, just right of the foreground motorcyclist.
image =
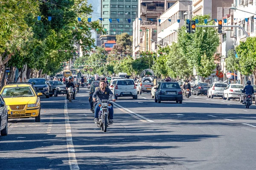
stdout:
<svg viewBox="0 0 256 170">
<path fill-rule="evenodd" d="M 113 94 L 118 97 L 131 96 L 137 99 L 137 88 L 133 79 L 117 79 L 113 88 Z"/>
</svg>

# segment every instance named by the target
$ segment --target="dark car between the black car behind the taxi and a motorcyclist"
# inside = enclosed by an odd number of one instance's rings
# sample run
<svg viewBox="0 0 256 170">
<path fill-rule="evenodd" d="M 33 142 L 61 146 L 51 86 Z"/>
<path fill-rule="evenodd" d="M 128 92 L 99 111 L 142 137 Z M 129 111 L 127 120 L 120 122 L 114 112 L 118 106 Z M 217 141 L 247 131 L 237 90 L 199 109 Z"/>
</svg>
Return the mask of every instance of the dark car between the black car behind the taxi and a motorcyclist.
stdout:
<svg viewBox="0 0 256 170">
<path fill-rule="evenodd" d="M 48 81 L 49 85 L 49 94 L 50 96 L 54 95 L 55 97 L 58 94 L 66 94 L 66 85 L 60 81 Z"/>
</svg>

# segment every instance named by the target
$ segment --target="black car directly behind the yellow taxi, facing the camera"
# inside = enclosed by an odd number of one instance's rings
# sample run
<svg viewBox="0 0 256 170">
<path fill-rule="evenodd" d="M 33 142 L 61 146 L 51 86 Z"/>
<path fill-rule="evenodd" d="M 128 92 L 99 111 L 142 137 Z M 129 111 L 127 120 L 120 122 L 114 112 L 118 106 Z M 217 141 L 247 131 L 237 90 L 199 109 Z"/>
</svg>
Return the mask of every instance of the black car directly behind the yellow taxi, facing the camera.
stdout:
<svg viewBox="0 0 256 170">
<path fill-rule="evenodd" d="M 36 89 L 36 92 L 40 92 L 49 98 L 49 86 L 44 78 L 33 78 L 29 79 L 29 82 L 33 84 Z"/>
</svg>

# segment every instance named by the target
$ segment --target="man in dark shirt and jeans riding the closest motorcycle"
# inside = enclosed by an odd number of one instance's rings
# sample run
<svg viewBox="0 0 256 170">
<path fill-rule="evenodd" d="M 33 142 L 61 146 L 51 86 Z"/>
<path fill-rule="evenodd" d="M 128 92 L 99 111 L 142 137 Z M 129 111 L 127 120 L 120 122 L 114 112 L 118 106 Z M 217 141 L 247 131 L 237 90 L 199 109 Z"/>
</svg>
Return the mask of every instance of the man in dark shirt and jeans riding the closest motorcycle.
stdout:
<svg viewBox="0 0 256 170">
<path fill-rule="evenodd" d="M 113 102 L 116 101 L 115 96 L 113 95 L 112 91 L 109 88 L 105 87 L 105 81 L 101 80 L 99 82 L 99 87 L 94 93 L 93 93 L 93 102 L 96 102 L 95 97 L 97 96 L 98 99 L 102 100 L 102 99 L 109 99 L 109 97 L 111 97 L 113 99 Z M 94 122 L 97 123 L 99 122 L 99 107 L 100 103 L 97 103 L 94 109 Z M 109 111 L 109 124 L 113 123 L 113 114 L 114 114 L 114 110 L 113 110 L 113 106 L 109 106 L 108 108 Z"/>
</svg>

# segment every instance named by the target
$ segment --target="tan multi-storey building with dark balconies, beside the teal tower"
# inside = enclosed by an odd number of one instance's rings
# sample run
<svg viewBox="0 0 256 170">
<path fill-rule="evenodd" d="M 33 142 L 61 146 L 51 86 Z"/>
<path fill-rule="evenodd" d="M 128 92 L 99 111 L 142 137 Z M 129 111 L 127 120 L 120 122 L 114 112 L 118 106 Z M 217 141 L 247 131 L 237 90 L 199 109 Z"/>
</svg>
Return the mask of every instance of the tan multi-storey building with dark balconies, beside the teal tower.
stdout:
<svg viewBox="0 0 256 170">
<path fill-rule="evenodd" d="M 138 51 L 154 51 L 160 15 L 177 0 L 139 0 L 138 17 L 133 22 L 133 57 Z M 153 41 L 152 41 L 153 40 Z"/>
</svg>

